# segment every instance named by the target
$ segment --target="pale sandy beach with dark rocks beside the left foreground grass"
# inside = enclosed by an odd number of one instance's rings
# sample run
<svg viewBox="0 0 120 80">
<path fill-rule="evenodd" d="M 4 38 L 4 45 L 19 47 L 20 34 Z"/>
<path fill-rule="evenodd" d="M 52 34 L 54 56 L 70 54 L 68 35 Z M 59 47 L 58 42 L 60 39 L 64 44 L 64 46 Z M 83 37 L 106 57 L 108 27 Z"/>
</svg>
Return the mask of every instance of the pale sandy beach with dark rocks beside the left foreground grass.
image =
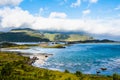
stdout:
<svg viewBox="0 0 120 80">
<path fill-rule="evenodd" d="M 25 52 L 20 52 L 20 51 L 9 51 L 9 50 L 8 51 L 1 50 L 1 51 L 2 52 L 12 52 L 12 53 L 16 53 L 19 56 L 29 57 L 31 60 L 29 62 L 29 64 L 31 64 L 31 65 L 34 65 L 34 64 L 43 65 L 49 57 L 53 56 L 53 54 L 48 54 L 48 53 L 25 53 Z"/>
</svg>

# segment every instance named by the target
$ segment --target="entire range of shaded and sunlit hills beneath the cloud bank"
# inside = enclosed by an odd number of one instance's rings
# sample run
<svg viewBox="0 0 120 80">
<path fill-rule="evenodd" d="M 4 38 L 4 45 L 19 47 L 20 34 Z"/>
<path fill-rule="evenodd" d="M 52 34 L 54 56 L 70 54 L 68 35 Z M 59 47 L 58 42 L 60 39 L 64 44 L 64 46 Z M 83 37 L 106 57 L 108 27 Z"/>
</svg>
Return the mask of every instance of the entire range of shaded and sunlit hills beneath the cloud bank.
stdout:
<svg viewBox="0 0 120 80">
<path fill-rule="evenodd" d="M 70 32 L 39 31 L 30 28 L 17 28 L 0 33 L 0 41 L 42 42 L 42 41 L 85 41 L 94 40 L 86 34 Z"/>
</svg>

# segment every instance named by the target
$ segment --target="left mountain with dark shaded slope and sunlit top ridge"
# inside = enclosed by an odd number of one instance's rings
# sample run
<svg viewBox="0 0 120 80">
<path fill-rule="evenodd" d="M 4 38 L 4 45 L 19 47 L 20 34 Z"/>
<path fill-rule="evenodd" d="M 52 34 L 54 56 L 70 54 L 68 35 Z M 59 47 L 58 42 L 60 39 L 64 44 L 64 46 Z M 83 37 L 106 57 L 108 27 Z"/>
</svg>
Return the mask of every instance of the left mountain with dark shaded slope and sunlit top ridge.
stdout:
<svg viewBox="0 0 120 80">
<path fill-rule="evenodd" d="M 0 41 L 9 41 L 9 42 L 39 42 L 45 41 L 48 42 L 49 39 L 41 38 L 40 35 L 36 36 L 32 32 L 34 30 L 25 28 L 25 29 L 13 29 L 10 32 L 0 33 Z"/>
</svg>

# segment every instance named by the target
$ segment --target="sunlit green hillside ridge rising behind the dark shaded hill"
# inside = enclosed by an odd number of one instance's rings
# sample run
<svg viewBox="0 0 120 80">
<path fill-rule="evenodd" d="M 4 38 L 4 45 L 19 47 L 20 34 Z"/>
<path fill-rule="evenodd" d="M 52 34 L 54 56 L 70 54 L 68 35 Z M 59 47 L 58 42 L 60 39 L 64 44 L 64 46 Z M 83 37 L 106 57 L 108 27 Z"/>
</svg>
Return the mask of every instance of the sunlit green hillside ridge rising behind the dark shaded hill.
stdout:
<svg viewBox="0 0 120 80">
<path fill-rule="evenodd" d="M 24 33 L 30 37 L 36 37 L 41 39 L 48 39 L 50 41 L 85 41 L 93 40 L 93 37 L 85 34 L 76 34 L 76 33 L 61 33 L 61 32 L 47 32 L 47 31 L 37 31 L 29 28 L 24 29 L 12 29 L 10 33 L 19 34 Z"/>
</svg>

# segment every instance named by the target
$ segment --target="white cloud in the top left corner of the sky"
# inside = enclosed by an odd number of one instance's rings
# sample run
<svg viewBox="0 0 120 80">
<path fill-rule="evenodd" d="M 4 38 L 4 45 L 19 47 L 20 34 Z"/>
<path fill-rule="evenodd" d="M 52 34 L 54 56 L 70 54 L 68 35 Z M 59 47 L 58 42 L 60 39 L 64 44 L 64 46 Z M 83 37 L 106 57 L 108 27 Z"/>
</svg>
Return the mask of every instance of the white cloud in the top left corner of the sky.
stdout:
<svg viewBox="0 0 120 80">
<path fill-rule="evenodd" d="M 17 6 L 19 5 L 23 0 L 0 0 L 0 6 L 6 6 L 6 5 L 12 5 Z"/>
</svg>

